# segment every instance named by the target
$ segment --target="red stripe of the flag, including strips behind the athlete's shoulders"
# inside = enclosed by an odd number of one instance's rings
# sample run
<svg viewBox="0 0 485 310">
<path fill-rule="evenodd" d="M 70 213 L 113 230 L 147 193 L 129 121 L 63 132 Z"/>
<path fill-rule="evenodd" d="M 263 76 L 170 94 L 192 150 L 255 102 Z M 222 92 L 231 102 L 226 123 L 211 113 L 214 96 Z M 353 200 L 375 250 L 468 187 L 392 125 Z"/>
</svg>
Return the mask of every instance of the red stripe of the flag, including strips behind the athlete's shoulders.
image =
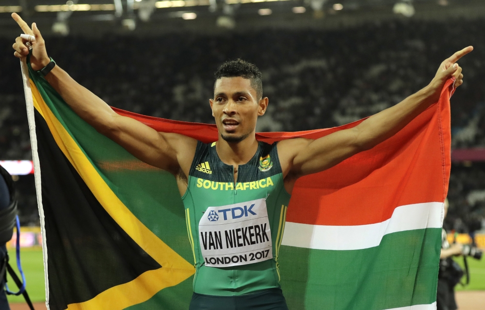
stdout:
<svg viewBox="0 0 485 310">
<path fill-rule="evenodd" d="M 450 107 L 453 79 L 432 105 L 393 137 L 295 185 L 287 221 L 316 225 L 366 225 L 389 219 L 401 205 L 443 202 L 450 175 Z M 188 123 L 113 108 L 161 132 L 183 134 L 209 143 L 218 138 L 213 124 Z M 360 124 L 300 132 L 258 133 L 273 143 L 305 137 L 318 139 Z"/>
</svg>

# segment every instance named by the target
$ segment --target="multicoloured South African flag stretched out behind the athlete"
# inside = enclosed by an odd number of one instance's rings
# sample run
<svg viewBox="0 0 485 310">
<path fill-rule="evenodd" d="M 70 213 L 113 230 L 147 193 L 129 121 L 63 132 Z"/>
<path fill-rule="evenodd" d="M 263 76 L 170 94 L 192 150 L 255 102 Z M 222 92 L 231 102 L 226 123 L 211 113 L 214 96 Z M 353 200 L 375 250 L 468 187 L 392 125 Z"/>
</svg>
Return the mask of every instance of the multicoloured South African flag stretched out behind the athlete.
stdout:
<svg viewBox="0 0 485 310">
<path fill-rule="evenodd" d="M 194 256 L 175 178 L 81 120 L 26 62 L 22 70 L 49 309 L 188 309 Z M 450 79 L 396 135 L 297 181 L 277 257 L 290 309 L 435 309 L 453 91 Z M 215 125 L 114 110 L 217 140 Z M 317 139 L 360 122 L 257 139 Z"/>
</svg>

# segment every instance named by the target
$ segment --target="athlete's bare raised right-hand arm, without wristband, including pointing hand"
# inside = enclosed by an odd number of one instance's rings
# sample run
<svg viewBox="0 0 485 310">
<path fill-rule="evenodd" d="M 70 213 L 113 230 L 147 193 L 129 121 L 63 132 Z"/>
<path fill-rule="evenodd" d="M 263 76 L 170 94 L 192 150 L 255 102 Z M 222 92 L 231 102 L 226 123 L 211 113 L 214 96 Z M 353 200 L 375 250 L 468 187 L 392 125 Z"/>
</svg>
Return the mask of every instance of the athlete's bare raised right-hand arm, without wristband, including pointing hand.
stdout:
<svg viewBox="0 0 485 310">
<path fill-rule="evenodd" d="M 392 137 L 416 116 L 436 103 L 441 90 L 450 77 L 456 79 L 455 87 L 463 83 L 461 67 L 455 63 L 473 50 L 467 47 L 456 52 L 441 63 L 435 78 L 418 93 L 397 105 L 372 115 L 354 128 L 340 130 L 317 140 L 294 139 L 281 141 L 289 165 L 286 169 L 289 181 L 317 173 L 335 166 L 342 160 L 361 151 L 369 150 Z M 282 158 L 282 156 L 280 156 Z"/>
</svg>

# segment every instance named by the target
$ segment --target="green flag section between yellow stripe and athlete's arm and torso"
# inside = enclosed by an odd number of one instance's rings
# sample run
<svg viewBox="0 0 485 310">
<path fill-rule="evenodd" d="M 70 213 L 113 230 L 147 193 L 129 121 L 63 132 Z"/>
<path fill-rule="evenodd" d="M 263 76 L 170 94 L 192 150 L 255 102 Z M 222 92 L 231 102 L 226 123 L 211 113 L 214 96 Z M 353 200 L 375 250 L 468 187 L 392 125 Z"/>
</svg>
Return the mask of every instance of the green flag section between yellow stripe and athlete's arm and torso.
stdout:
<svg viewBox="0 0 485 310">
<path fill-rule="evenodd" d="M 172 174 L 153 170 L 103 169 L 107 162 L 139 162 L 120 145 L 83 121 L 46 80 L 30 73 L 49 110 L 78 144 L 113 193 L 149 230 L 186 261 L 193 253 L 186 237 L 184 207 Z"/>
</svg>

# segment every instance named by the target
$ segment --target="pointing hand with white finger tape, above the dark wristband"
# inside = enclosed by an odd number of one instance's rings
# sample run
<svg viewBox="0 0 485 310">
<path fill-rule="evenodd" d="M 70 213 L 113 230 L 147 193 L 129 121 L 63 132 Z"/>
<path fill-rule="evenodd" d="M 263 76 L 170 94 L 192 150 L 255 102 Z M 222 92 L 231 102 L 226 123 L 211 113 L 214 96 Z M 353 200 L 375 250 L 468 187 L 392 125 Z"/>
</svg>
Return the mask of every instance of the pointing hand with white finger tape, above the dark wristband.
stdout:
<svg viewBox="0 0 485 310">
<path fill-rule="evenodd" d="M 16 13 L 12 13 L 12 18 L 17 22 L 18 26 L 24 31 L 25 34 L 33 35 L 35 41 L 31 42 L 32 45 L 32 55 L 30 58 L 32 69 L 39 71 L 50 62 L 49 56 L 47 56 L 46 44 L 44 38 L 40 34 L 39 29 L 35 23 L 32 23 L 32 29 L 27 25 L 27 23 L 18 16 Z M 18 58 L 23 58 L 29 55 L 29 47 L 26 46 L 27 40 L 22 39 L 18 36 L 15 39 L 15 43 L 12 47 L 15 49 L 14 56 Z"/>
</svg>

